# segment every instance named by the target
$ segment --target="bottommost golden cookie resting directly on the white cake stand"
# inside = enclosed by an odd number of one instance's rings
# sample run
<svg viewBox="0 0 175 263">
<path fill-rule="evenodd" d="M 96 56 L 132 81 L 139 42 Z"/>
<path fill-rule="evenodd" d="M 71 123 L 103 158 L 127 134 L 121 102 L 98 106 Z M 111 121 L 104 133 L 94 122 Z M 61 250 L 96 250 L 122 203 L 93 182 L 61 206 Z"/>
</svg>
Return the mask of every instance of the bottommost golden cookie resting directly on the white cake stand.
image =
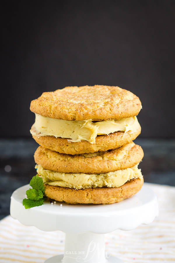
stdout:
<svg viewBox="0 0 175 263">
<path fill-rule="evenodd" d="M 113 204 L 135 195 L 143 185 L 141 179 L 132 179 L 120 187 L 88 188 L 75 190 L 67 187 L 45 184 L 45 195 L 68 204 Z"/>
</svg>

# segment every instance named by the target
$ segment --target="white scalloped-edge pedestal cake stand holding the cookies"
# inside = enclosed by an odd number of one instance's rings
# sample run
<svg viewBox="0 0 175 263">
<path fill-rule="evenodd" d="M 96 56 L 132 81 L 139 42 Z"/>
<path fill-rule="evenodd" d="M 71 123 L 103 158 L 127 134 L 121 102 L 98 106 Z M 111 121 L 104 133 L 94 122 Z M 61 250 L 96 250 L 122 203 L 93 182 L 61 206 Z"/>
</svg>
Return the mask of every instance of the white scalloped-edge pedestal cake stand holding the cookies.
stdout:
<svg viewBox="0 0 175 263">
<path fill-rule="evenodd" d="M 64 255 L 45 263 L 106 263 L 122 262 L 105 257 L 104 234 L 116 229 L 131 230 L 149 224 L 158 215 L 157 197 L 143 186 L 132 198 L 111 205 L 68 205 L 60 202 L 25 209 L 22 200 L 29 185 L 18 188 L 11 196 L 10 214 L 23 225 L 43 231 L 66 233 Z M 62 204 L 62 206 L 60 206 Z"/>
</svg>

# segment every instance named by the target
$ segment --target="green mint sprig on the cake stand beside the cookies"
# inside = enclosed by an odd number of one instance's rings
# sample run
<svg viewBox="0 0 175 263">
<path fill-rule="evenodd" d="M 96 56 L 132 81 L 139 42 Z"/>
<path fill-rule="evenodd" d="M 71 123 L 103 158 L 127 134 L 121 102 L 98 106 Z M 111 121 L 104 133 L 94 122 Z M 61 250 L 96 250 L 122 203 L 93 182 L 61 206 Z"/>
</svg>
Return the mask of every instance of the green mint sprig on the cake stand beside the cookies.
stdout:
<svg viewBox="0 0 175 263">
<path fill-rule="evenodd" d="M 22 205 L 24 205 L 25 209 L 43 205 L 44 203 L 44 183 L 41 177 L 38 177 L 38 174 L 32 177 L 30 181 L 29 190 L 26 191 L 27 198 L 24 198 L 22 201 Z"/>
</svg>

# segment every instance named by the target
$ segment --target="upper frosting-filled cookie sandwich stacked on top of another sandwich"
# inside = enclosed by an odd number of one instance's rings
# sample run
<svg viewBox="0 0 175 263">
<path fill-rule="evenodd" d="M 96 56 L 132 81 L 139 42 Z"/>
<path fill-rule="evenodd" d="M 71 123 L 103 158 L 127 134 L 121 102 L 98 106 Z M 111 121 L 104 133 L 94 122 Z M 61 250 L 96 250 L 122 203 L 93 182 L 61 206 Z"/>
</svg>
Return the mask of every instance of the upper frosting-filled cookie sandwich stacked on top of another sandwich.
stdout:
<svg viewBox="0 0 175 263">
<path fill-rule="evenodd" d="M 118 148 L 141 132 L 136 115 L 139 98 L 115 86 L 66 87 L 44 92 L 31 101 L 35 113 L 31 134 L 50 150 L 94 153 Z"/>
</svg>

